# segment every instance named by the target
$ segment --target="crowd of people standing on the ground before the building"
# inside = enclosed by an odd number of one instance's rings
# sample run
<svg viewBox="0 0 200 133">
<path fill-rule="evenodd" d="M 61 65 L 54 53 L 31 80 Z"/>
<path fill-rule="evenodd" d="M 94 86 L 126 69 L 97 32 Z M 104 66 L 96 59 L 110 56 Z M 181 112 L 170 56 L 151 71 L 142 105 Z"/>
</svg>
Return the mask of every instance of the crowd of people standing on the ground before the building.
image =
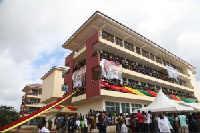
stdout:
<svg viewBox="0 0 200 133">
<path fill-rule="evenodd" d="M 43 120 L 42 123 L 46 123 L 46 121 Z M 200 132 L 200 113 L 151 113 L 151 111 L 140 112 L 138 110 L 137 113 L 119 114 L 117 112 L 106 113 L 105 111 L 90 110 L 85 116 L 75 114 L 56 117 L 53 122 L 40 123 L 38 128 L 44 130 L 46 125 L 49 131 L 52 131 L 54 125 L 56 131 L 63 133 L 87 133 L 97 130 L 107 132 L 108 126 L 116 128 L 117 133 L 193 133 Z"/>
</svg>

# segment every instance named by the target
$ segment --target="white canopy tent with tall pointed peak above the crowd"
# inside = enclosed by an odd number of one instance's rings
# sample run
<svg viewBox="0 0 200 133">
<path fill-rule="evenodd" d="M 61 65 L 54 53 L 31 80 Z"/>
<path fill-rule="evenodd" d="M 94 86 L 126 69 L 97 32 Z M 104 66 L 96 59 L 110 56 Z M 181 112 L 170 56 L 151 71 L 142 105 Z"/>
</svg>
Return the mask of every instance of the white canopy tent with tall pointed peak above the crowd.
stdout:
<svg viewBox="0 0 200 133">
<path fill-rule="evenodd" d="M 179 105 L 174 101 L 170 100 L 163 92 L 160 90 L 154 101 L 147 107 L 139 109 L 140 111 L 151 111 L 151 112 L 177 112 L 177 111 L 193 111 L 192 107 L 185 107 Z M 137 112 L 137 110 L 134 110 Z"/>
</svg>

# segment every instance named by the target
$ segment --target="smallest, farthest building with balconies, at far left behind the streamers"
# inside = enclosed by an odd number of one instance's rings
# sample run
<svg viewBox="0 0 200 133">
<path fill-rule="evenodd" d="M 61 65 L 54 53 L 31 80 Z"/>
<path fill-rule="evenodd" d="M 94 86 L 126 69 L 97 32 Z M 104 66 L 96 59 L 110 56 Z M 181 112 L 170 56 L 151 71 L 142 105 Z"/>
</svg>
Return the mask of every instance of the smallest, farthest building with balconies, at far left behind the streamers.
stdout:
<svg viewBox="0 0 200 133">
<path fill-rule="evenodd" d="M 29 84 L 26 85 L 23 90 L 25 94 L 22 97 L 22 104 L 20 108 L 20 117 L 27 116 L 39 109 L 41 109 L 45 104 L 41 103 L 42 96 L 42 85 L 41 84 Z M 40 118 L 46 117 L 45 115 L 40 115 L 35 119 L 30 120 L 22 128 L 34 128 Z"/>
</svg>

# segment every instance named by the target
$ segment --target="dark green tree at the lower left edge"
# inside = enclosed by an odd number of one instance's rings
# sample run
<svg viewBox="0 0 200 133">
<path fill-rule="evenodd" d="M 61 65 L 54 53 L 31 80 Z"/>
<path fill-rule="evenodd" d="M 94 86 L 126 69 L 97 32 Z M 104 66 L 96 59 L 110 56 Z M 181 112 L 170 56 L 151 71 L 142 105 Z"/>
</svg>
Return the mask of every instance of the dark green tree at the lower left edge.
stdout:
<svg viewBox="0 0 200 133">
<path fill-rule="evenodd" d="M 0 106 L 0 127 L 18 120 L 18 112 L 14 107 Z"/>
</svg>

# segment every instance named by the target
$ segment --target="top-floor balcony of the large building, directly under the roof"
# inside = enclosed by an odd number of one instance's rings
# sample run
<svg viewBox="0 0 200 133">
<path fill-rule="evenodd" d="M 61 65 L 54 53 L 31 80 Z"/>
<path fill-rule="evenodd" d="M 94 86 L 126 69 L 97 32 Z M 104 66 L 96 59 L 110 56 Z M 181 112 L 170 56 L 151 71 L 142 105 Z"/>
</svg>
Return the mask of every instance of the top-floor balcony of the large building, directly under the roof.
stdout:
<svg viewBox="0 0 200 133">
<path fill-rule="evenodd" d="M 109 39 L 111 37 L 114 38 L 114 39 Z M 149 53 L 148 51 L 142 50 L 139 47 L 135 47 L 132 44 L 127 43 L 126 41 L 123 41 L 122 39 L 111 35 L 110 33 L 102 31 L 102 35 L 100 36 L 99 41 L 104 43 L 104 44 L 109 45 L 111 48 L 118 49 L 118 50 L 121 50 L 123 52 L 126 52 L 126 53 L 129 54 L 129 56 L 133 55 L 136 58 L 139 58 L 140 60 L 151 63 L 152 65 L 157 66 L 160 69 L 166 69 L 166 65 L 171 65 L 173 68 L 177 69 L 177 71 L 179 72 L 179 75 L 181 77 L 190 79 L 190 77 L 188 77 L 187 74 L 183 73 L 183 70 L 181 68 L 176 67 L 175 65 L 164 61 L 160 57 L 154 56 L 153 54 Z M 101 45 L 98 48 L 107 48 L 107 47 Z"/>
</svg>

